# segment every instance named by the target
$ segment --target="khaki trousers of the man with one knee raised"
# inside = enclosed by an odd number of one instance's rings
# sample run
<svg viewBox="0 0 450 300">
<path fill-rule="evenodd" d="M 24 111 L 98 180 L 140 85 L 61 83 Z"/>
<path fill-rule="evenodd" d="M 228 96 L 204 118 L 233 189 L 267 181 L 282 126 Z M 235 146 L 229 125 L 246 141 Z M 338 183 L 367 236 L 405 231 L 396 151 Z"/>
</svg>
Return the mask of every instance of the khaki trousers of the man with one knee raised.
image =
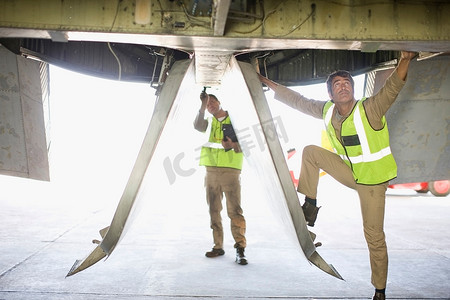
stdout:
<svg viewBox="0 0 450 300">
<path fill-rule="evenodd" d="M 340 183 L 358 192 L 364 236 L 370 254 L 372 284 L 377 289 L 386 288 L 388 255 L 383 224 L 388 183 L 379 185 L 357 184 L 351 169 L 337 154 L 311 145 L 303 150 L 302 167 L 298 183 L 298 191 L 311 199 L 316 199 L 317 197 L 320 169 L 330 174 Z"/>
</svg>

